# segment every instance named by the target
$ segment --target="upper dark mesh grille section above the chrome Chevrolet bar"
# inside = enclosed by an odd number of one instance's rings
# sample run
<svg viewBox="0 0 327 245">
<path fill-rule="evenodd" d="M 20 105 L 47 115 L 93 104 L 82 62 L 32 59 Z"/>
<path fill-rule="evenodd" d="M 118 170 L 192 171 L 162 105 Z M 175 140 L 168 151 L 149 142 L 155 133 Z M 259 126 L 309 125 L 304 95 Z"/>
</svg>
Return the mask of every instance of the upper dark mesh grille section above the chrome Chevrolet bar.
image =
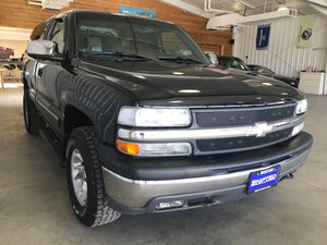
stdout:
<svg viewBox="0 0 327 245">
<path fill-rule="evenodd" d="M 272 122 L 294 114 L 295 105 L 277 107 L 220 109 L 211 112 L 195 112 L 199 127 L 239 126 L 256 122 Z"/>
</svg>

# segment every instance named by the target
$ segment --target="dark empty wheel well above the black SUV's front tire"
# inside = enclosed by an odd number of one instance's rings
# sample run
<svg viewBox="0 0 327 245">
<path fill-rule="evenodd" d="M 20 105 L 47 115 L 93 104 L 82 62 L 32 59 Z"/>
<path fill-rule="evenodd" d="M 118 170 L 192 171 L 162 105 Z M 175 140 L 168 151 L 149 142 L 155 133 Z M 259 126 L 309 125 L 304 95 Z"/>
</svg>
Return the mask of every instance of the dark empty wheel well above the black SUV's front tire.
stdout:
<svg viewBox="0 0 327 245">
<path fill-rule="evenodd" d="M 66 106 L 64 112 L 64 134 L 69 136 L 78 126 L 94 125 L 92 120 L 73 106 Z"/>
</svg>

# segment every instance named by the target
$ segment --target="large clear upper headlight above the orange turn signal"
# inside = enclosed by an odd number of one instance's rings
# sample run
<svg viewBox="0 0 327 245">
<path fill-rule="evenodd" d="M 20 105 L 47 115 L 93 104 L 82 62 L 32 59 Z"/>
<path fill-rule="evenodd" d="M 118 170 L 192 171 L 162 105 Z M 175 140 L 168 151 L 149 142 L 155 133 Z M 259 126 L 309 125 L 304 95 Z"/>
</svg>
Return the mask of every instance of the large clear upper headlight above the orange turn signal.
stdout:
<svg viewBox="0 0 327 245">
<path fill-rule="evenodd" d="M 185 108 L 122 107 L 118 123 L 128 126 L 189 126 L 191 113 Z"/>
</svg>

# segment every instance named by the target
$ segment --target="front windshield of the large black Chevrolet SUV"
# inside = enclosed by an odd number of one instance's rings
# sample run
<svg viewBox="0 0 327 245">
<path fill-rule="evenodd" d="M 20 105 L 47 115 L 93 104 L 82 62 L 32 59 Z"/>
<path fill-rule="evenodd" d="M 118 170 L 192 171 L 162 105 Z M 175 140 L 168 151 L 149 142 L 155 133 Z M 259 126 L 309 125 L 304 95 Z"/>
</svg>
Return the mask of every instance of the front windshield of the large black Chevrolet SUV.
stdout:
<svg viewBox="0 0 327 245">
<path fill-rule="evenodd" d="M 88 59 L 207 63 L 204 52 L 182 28 L 149 19 L 80 14 L 76 38 L 78 56 Z"/>
</svg>

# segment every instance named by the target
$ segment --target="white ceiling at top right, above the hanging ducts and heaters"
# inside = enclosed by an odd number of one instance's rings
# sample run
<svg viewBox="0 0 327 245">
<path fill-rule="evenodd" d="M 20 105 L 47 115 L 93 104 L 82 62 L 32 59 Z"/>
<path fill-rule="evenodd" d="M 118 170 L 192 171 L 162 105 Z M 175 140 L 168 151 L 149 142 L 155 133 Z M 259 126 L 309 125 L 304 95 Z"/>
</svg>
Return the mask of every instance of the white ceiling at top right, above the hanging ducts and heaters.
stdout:
<svg viewBox="0 0 327 245">
<path fill-rule="evenodd" d="M 255 9 L 245 7 L 239 0 L 211 0 L 211 8 L 219 10 L 228 10 L 242 15 L 259 14 L 264 12 L 276 11 L 280 4 L 287 5 L 289 9 L 296 9 L 298 15 L 310 15 L 318 13 L 306 1 L 303 0 L 243 0 L 246 3 L 255 7 Z M 178 1 L 177 1 L 178 2 Z M 180 0 L 195 7 L 197 9 L 204 9 L 205 0 Z"/>
</svg>

